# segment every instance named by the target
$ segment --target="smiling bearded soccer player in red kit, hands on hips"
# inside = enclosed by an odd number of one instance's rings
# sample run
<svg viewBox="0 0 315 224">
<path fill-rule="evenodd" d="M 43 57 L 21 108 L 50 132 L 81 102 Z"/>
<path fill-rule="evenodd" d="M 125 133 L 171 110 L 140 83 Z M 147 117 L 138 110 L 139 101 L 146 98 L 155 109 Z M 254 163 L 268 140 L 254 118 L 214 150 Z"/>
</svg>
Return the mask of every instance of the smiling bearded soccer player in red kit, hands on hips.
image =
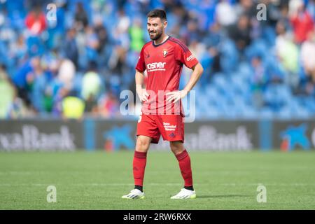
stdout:
<svg viewBox="0 0 315 224">
<path fill-rule="evenodd" d="M 169 146 L 179 161 L 179 168 L 184 180 L 183 189 L 171 198 L 193 199 L 196 197 L 196 193 L 193 188 L 190 157 L 183 146 L 184 115 L 181 99 L 186 97 L 195 86 L 202 75 L 203 68 L 186 45 L 165 34 L 167 16 L 164 10 L 152 10 L 147 17 L 148 34 L 152 41 L 143 46 L 135 75 L 137 94 L 143 104 L 142 113 L 138 120 L 137 144 L 133 159 L 134 189 L 122 198 L 144 198 L 144 169 L 148 148 L 151 143 L 158 144 L 162 135 L 165 141 L 169 141 Z M 179 79 L 183 64 L 193 69 L 193 73 L 186 87 L 179 91 Z M 148 75 L 146 89 L 142 87 L 144 71 Z M 160 92 L 163 93 L 162 104 L 160 104 Z M 152 106 L 153 102 L 158 102 L 158 106 Z M 168 107 L 169 104 L 171 104 L 170 107 Z M 176 105 L 180 106 L 180 109 L 177 110 L 179 113 L 175 113 Z M 169 111 L 171 113 L 168 113 Z"/>
</svg>

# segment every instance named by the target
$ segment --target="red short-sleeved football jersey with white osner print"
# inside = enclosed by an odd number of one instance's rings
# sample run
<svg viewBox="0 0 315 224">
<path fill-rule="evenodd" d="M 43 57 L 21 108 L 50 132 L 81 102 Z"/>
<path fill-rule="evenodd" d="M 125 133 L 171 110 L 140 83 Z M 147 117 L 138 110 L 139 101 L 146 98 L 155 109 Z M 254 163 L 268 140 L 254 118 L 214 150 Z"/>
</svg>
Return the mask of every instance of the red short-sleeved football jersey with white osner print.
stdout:
<svg viewBox="0 0 315 224">
<path fill-rule="evenodd" d="M 144 104 L 142 111 L 144 112 L 146 105 L 151 111 L 150 113 L 153 113 L 155 109 L 157 109 L 155 114 L 161 113 L 161 107 L 164 114 L 167 113 L 166 109 L 176 111 L 173 104 L 170 106 L 166 104 L 165 93 L 179 90 L 183 64 L 192 69 L 197 63 L 198 60 L 187 46 L 172 36 L 158 45 L 155 45 L 153 41 L 146 43 L 140 52 L 136 66 L 138 71 L 146 70 L 148 73 L 146 90 L 148 90 L 150 97 L 148 102 Z M 155 92 L 155 96 L 153 96 L 153 92 Z M 163 96 L 160 93 L 163 93 Z M 161 101 L 161 99 L 163 100 Z M 154 102 L 156 102 L 156 107 L 154 106 L 153 109 Z M 181 102 L 179 102 L 179 106 L 182 113 Z"/>
</svg>

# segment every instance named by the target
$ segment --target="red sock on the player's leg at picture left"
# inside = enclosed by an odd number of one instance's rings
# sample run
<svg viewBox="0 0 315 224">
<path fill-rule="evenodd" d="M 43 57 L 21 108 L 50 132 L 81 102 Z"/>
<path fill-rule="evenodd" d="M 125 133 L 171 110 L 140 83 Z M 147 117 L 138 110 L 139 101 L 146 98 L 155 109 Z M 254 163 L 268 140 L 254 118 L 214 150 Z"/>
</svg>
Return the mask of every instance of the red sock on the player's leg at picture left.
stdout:
<svg viewBox="0 0 315 224">
<path fill-rule="evenodd" d="M 134 185 L 144 186 L 144 169 L 146 168 L 146 153 L 134 151 Z"/>
</svg>

